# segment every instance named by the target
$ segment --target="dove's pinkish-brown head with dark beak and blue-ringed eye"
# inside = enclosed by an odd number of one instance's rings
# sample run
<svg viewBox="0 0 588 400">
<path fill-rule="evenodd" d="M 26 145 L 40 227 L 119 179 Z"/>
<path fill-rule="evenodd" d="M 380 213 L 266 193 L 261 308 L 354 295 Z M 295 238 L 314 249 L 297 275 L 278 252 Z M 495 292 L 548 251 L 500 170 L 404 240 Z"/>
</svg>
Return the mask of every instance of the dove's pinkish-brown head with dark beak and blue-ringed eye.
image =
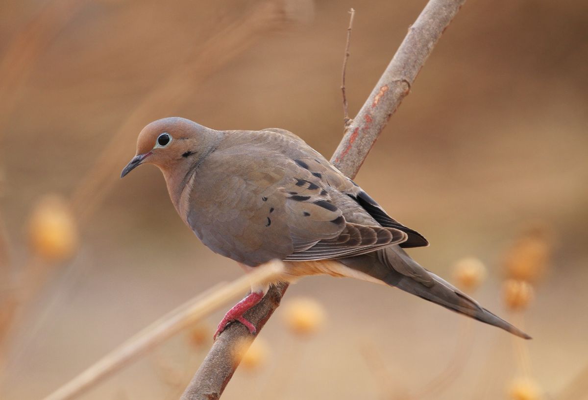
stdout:
<svg viewBox="0 0 588 400">
<path fill-rule="evenodd" d="M 121 178 L 141 164 L 155 164 L 164 173 L 192 164 L 215 139 L 217 132 L 189 119 L 169 117 L 145 126 L 137 139 L 137 152 L 121 172 Z"/>
</svg>

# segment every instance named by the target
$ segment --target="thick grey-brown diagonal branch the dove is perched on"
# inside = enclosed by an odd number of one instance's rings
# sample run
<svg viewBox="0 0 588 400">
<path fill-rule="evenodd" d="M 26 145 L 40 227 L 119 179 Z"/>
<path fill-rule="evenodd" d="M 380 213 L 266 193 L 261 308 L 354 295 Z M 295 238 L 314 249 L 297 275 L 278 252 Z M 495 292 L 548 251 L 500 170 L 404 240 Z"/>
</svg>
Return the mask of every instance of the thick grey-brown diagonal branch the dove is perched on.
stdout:
<svg viewBox="0 0 588 400">
<path fill-rule="evenodd" d="M 402 99 L 409 93 L 419 70 L 465 0 L 430 0 L 409 28 L 406 38 L 390 61 L 362 109 L 348 126 L 331 162 L 349 177 L 355 177 L 380 132 Z M 288 287 L 270 288 L 259 304 L 245 315 L 259 332 L 280 304 Z M 254 335 L 241 324 L 229 325 L 219 335 L 181 400 L 218 399 L 239 365 L 243 341 Z"/>
</svg>

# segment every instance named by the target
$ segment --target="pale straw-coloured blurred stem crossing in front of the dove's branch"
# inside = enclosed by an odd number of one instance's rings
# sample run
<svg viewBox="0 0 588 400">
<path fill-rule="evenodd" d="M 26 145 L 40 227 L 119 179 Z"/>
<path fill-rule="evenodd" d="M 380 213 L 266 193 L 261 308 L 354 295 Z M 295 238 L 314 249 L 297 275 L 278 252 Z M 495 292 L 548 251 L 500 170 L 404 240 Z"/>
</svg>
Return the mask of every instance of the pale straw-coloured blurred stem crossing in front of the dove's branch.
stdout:
<svg viewBox="0 0 588 400">
<path fill-rule="evenodd" d="M 44 400 L 66 400 L 82 394 L 182 328 L 195 324 L 222 305 L 243 295 L 252 283 L 271 281 L 276 274 L 282 271 L 282 268 L 281 261 L 271 261 L 230 284 L 213 288 L 189 300 L 126 340 L 86 371 L 46 396 Z"/>
</svg>

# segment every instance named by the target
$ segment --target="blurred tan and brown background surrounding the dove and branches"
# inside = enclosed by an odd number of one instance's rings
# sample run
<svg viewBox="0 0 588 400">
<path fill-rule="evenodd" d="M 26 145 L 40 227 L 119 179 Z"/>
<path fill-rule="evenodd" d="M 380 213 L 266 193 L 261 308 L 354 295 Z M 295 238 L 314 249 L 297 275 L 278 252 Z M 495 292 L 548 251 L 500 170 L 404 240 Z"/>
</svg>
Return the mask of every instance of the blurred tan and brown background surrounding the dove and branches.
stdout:
<svg viewBox="0 0 588 400">
<path fill-rule="evenodd" d="M 425 4 L 2 0 L 0 397 L 42 398 L 242 274 L 182 224 L 155 167 L 119 179 L 144 125 L 282 127 L 329 157 L 349 8 L 355 115 Z M 588 398 L 587 12 L 467 2 L 356 177 L 429 239 L 416 260 L 533 340 L 306 278 L 224 399 Z M 230 305 L 81 398 L 179 398 Z"/>
</svg>

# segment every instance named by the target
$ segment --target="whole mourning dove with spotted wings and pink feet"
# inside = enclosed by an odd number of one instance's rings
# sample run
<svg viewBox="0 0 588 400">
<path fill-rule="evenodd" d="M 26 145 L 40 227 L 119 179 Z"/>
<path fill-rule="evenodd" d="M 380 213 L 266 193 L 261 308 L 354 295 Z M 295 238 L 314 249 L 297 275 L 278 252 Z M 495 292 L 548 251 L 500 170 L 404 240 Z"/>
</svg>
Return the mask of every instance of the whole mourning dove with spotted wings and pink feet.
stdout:
<svg viewBox="0 0 588 400">
<path fill-rule="evenodd" d="M 383 283 L 530 338 L 410 258 L 403 248 L 427 246 L 425 237 L 287 130 L 222 131 L 160 119 L 139 133 L 121 177 L 145 163 L 161 169 L 173 206 L 202 243 L 245 270 L 279 258 L 283 281 L 328 274 Z M 267 290 L 252 288 L 217 334 L 232 321 L 254 333 L 243 313 Z"/>
</svg>

